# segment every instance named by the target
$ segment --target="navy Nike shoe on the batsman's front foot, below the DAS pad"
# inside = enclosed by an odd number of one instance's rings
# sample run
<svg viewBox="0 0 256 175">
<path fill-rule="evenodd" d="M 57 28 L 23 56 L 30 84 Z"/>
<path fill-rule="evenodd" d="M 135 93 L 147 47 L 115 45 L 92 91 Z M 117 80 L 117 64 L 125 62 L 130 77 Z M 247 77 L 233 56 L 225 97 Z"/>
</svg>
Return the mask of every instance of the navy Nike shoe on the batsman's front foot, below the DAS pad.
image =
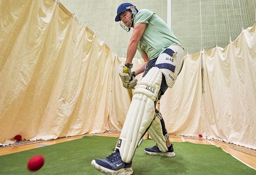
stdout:
<svg viewBox="0 0 256 175">
<path fill-rule="evenodd" d="M 103 173 L 107 174 L 132 174 L 132 163 L 127 164 L 122 161 L 120 152 L 118 149 L 109 157 L 105 159 L 95 159 L 91 161 L 91 165 L 96 168 L 96 170 L 99 170 Z"/>
</svg>

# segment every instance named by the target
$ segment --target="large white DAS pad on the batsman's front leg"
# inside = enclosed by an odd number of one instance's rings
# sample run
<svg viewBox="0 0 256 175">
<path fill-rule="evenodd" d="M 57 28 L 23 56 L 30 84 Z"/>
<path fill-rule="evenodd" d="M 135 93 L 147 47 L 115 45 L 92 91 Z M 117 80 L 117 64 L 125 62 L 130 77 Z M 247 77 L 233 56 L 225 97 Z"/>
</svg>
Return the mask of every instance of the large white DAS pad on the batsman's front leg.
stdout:
<svg viewBox="0 0 256 175">
<path fill-rule="evenodd" d="M 158 67 L 153 67 L 134 90 L 132 103 L 116 145 L 125 163 L 132 161 L 135 149 L 154 119 L 154 102 L 158 97 L 161 80 L 161 71 Z"/>
</svg>

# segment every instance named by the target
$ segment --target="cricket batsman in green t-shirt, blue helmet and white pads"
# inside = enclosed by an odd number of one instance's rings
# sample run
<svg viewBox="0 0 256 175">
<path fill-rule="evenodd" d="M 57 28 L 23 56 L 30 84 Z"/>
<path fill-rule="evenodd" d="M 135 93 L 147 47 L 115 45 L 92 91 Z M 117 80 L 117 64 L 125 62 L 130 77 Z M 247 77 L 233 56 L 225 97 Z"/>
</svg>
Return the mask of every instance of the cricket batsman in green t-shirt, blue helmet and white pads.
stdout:
<svg viewBox="0 0 256 175">
<path fill-rule="evenodd" d="M 115 21 L 127 32 L 133 28 L 126 63 L 119 73 L 123 86 L 135 90 L 115 152 L 105 159 L 92 160 L 91 164 L 107 174 L 132 174 L 132 159 L 146 132 L 155 142 L 155 146 L 144 149 L 146 154 L 175 156 L 164 119 L 156 107 L 167 88 L 176 82 L 185 54 L 171 29 L 150 10 L 139 11 L 131 3 L 122 3 Z M 145 62 L 132 72 L 137 50 Z M 142 79 L 137 83 L 135 77 L 140 73 Z"/>
</svg>

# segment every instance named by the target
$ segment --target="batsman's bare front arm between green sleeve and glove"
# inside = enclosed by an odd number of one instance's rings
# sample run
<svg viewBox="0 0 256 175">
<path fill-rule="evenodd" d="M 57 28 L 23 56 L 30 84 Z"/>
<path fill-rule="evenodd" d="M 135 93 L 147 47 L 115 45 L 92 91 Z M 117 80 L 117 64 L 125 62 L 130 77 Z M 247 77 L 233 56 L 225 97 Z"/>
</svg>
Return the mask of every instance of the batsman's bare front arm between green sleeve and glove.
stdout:
<svg viewBox="0 0 256 175">
<path fill-rule="evenodd" d="M 147 27 L 146 23 L 137 23 L 133 29 L 133 35 L 130 38 L 128 48 L 127 48 L 127 55 L 126 55 L 126 62 L 132 63 L 133 57 L 137 51 L 137 47 L 141 36 L 143 35 L 145 29 Z"/>
</svg>

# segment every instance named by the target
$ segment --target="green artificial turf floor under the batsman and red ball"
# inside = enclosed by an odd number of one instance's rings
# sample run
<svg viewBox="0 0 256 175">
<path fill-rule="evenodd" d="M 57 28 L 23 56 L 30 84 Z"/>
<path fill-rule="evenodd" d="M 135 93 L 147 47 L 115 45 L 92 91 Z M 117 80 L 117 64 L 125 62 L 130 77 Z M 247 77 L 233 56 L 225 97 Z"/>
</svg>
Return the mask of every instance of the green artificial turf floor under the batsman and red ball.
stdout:
<svg viewBox="0 0 256 175">
<path fill-rule="evenodd" d="M 0 174 L 102 174 L 91 166 L 91 161 L 113 153 L 117 139 L 85 136 L 82 139 L 3 155 L 0 157 Z M 176 157 L 160 157 L 145 154 L 143 148 L 153 146 L 154 142 L 143 140 L 135 152 L 133 174 L 256 174 L 255 170 L 216 146 L 189 142 L 173 144 Z M 39 171 L 29 172 L 27 162 L 36 154 L 45 157 L 45 165 Z"/>
</svg>

